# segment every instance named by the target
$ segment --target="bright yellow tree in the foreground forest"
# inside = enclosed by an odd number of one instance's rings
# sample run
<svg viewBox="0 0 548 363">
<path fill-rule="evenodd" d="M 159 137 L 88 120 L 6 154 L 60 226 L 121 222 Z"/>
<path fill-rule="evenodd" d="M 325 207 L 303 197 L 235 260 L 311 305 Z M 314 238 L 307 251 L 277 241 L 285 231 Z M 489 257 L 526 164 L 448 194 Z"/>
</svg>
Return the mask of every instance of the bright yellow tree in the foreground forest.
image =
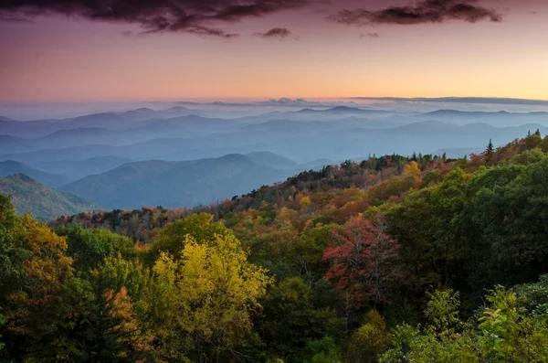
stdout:
<svg viewBox="0 0 548 363">
<path fill-rule="evenodd" d="M 260 308 L 270 279 L 234 236 L 215 234 L 212 240 L 184 239 L 180 259 L 162 252 L 153 272 L 168 300 L 172 329 L 191 341 L 195 361 L 236 354 Z"/>
</svg>

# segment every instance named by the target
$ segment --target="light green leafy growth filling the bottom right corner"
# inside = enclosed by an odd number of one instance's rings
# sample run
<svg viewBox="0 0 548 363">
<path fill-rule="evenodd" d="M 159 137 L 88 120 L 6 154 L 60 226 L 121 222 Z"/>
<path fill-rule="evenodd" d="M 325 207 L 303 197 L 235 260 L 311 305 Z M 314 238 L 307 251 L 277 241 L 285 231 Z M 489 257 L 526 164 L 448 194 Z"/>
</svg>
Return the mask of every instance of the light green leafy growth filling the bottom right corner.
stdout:
<svg viewBox="0 0 548 363">
<path fill-rule="evenodd" d="M 381 362 L 548 361 L 548 280 L 505 289 L 497 286 L 477 323 L 458 316 L 458 293 L 429 294 L 426 329 L 397 326 Z M 531 294 L 532 293 L 532 294 Z M 542 296 L 542 297 L 541 297 Z M 528 309 L 528 306 L 536 308 Z"/>
</svg>

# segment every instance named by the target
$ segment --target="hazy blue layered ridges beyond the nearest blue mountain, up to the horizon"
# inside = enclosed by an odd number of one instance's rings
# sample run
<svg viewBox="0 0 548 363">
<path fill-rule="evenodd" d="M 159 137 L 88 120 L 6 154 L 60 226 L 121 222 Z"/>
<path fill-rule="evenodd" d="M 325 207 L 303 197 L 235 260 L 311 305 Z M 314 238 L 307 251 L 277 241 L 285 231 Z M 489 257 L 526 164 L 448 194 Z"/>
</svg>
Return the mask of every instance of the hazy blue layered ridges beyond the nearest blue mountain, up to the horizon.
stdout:
<svg viewBox="0 0 548 363">
<path fill-rule="evenodd" d="M 25 163 L 76 181 L 128 162 L 197 160 L 265 150 L 300 165 L 370 154 L 436 154 L 440 149 L 462 156 L 447 149 L 478 152 L 485 140 L 505 144 L 528 131 L 544 132 L 547 125 L 546 112 L 420 113 L 364 106 L 236 117 L 229 111 L 139 109 L 65 120 L 0 122 L 0 161 Z"/>
</svg>

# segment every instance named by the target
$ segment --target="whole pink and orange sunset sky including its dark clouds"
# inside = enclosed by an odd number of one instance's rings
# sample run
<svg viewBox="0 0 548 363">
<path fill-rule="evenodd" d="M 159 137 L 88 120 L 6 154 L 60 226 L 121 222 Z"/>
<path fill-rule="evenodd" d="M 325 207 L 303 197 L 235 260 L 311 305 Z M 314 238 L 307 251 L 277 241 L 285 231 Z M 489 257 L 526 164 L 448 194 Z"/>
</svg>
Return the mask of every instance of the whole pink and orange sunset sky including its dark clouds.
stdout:
<svg viewBox="0 0 548 363">
<path fill-rule="evenodd" d="M 547 35 L 546 0 L 0 0 L 0 103 L 548 100 Z"/>
</svg>

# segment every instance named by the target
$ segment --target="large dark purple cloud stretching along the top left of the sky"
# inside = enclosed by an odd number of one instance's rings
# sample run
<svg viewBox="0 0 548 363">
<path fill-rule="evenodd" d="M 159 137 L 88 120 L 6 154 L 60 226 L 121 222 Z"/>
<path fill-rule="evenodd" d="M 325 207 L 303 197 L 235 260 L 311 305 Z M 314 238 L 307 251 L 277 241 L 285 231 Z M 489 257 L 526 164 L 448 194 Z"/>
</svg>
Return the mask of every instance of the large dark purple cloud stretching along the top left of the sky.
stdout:
<svg viewBox="0 0 548 363">
<path fill-rule="evenodd" d="M 216 27 L 246 17 L 267 16 L 307 5 L 309 0 L 17 0 L 0 1 L 0 19 L 62 15 L 90 21 L 136 24 L 143 34 L 184 32 L 237 37 Z"/>
</svg>

